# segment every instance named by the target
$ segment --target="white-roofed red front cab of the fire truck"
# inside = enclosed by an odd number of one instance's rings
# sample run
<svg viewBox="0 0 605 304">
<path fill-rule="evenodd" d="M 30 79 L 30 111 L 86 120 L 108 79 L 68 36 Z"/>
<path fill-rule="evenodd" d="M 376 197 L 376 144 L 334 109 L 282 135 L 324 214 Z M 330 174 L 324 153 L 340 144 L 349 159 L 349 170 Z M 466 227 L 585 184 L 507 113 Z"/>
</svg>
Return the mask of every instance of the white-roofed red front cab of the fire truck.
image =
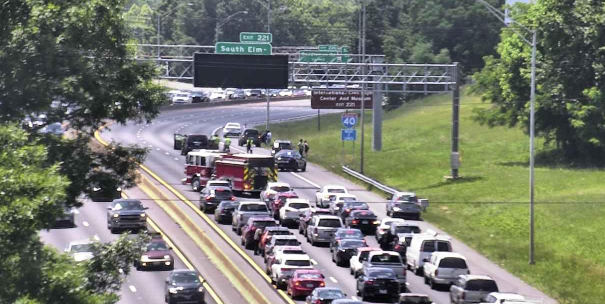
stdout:
<svg viewBox="0 0 605 304">
<path fill-rule="evenodd" d="M 200 191 L 206 182 L 212 179 L 214 163 L 226 153 L 218 150 L 194 150 L 187 153 L 185 161 L 185 178 L 181 180 L 184 185 L 191 184 L 193 191 Z"/>
</svg>

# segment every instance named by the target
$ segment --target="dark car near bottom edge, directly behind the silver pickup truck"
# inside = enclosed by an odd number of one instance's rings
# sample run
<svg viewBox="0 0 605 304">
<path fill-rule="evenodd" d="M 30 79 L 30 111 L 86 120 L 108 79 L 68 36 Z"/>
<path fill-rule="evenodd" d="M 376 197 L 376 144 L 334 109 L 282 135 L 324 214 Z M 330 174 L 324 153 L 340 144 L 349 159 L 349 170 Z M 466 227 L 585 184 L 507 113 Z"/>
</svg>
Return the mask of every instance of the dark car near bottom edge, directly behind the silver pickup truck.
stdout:
<svg viewBox="0 0 605 304">
<path fill-rule="evenodd" d="M 399 282 L 390 268 L 370 267 L 357 278 L 357 295 L 363 301 L 370 298 L 399 300 Z"/>
</svg>

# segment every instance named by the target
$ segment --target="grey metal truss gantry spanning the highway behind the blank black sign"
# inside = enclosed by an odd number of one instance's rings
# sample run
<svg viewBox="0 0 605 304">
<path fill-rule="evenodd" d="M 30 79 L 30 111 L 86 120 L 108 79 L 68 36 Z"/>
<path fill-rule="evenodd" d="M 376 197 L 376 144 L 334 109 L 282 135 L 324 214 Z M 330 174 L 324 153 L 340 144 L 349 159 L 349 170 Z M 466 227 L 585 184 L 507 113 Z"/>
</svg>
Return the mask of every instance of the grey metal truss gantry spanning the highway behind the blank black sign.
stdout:
<svg viewBox="0 0 605 304">
<path fill-rule="evenodd" d="M 133 45 L 138 53 L 137 61 L 155 62 L 161 69 L 160 78 L 193 80 L 193 54 L 214 52 L 213 46 L 160 46 L 171 55 L 160 58 L 152 51 L 157 45 Z M 454 90 L 458 81 L 457 64 L 388 64 L 383 55 L 367 55 L 365 62 L 359 62 L 361 55 L 347 54 L 354 58 L 348 62 L 300 62 L 300 50 L 307 47 L 275 47 L 276 54 L 290 56 L 289 83 L 291 86 L 321 87 L 336 90 L 357 90 L 363 84 L 367 90 L 375 92 L 443 93 Z M 295 52 L 293 52 L 295 51 Z M 282 52 L 282 53 L 280 53 Z M 344 55 L 343 55 L 344 56 Z M 357 61 L 357 62 L 356 62 Z"/>
</svg>

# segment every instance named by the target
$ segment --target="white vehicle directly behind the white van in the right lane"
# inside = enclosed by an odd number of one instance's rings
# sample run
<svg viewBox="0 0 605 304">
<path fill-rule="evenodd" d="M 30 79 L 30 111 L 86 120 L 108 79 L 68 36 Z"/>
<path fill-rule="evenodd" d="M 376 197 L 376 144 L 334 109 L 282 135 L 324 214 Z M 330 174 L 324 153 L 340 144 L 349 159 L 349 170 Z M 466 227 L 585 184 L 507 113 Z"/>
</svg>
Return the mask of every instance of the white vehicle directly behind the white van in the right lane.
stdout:
<svg viewBox="0 0 605 304">
<path fill-rule="evenodd" d="M 424 260 L 424 283 L 432 289 L 439 285 L 450 285 L 456 282 L 458 276 L 470 274 L 466 258 L 454 252 L 433 252 Z"/>
</svg>

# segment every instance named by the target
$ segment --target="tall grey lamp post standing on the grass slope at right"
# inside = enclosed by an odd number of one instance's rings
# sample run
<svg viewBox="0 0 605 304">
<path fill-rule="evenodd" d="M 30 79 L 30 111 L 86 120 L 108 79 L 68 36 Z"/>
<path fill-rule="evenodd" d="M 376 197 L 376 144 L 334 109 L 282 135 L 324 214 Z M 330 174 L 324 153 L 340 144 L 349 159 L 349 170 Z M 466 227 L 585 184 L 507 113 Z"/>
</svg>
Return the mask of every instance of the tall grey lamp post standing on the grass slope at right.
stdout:
<svg viewBox="0 0 605 304">
<path fill-rule="evenodd" d="M 483 4 L 487 10 L 502 21 L 507 26 L 509 23 L 515 23 L 523 30 L 532 34 L 529 41 L 519 32 L 513 29 L 521 39 L 531 46 L 531 89 L 529 105 L 529 264 L 535 263 L 535 237 L 534 237 L 534 136 L 535 136 L 535 102 L 536 102 L 536 35 L 537 30 L 531 30 L 522 24 L 516 22 L 506 14 L 496 9 L 484 0 L 477 0 Z"/>
</svg>

